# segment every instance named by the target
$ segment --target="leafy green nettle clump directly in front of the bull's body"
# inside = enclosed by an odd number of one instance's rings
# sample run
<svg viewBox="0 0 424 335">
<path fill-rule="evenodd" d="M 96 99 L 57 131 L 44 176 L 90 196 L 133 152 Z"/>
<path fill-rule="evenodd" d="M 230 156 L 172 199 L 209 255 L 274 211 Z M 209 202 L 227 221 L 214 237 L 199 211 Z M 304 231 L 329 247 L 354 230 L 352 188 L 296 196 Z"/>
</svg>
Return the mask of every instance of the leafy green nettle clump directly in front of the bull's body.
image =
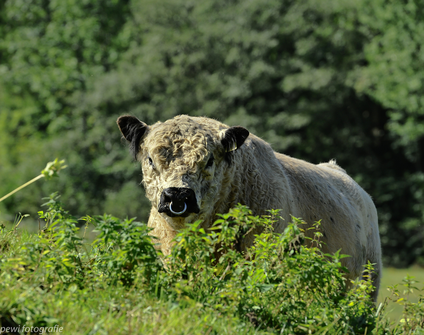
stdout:
<svg viewBox="0 0 424 335">
<path fill-rule="evenodd" d="M 283 234 L 273 233 L 271 224 L 278 211 L 272 213 L 252 216 L 240 206 L 216 221 L 211 233 L 200 227 L 200 221 L 181 230 L 167 263 L 168 282 L 173 282 L 170 288 L 176 297 L 237 311 L 257 326 L 285 327 L 291 333 L 315 333 L 323 328 L 357 333 L 373 327 L 370 282 L 358 281 L 346 291 L 342 271 L 347 269 L 340 263 L 346 255 L 323 255 L 318 245 L 298 244 L 304 222 L 296 218 Z M 234 248 L 240 232 L 257 226 L 263 232 L 241 254 Z M 319 244 L 319 235 L 313 244 Z"/>
</svg>

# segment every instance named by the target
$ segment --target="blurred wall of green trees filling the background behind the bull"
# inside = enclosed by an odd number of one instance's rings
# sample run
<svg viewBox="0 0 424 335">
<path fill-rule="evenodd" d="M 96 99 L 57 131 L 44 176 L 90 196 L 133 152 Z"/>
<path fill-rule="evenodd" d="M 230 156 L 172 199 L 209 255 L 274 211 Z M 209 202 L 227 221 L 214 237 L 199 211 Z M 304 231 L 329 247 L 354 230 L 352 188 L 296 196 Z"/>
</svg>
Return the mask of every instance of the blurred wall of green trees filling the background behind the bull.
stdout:
<svg viewBox="0 0 424 335">
<path fill-rule="evenodd" d="M 424 263 L 424 4 L 408 0 L 0 0 L 0 203 L 144 219 L 115 120 L 243 125 L 336 158 L 377 206 L 384 262 Z"/>
</svg>

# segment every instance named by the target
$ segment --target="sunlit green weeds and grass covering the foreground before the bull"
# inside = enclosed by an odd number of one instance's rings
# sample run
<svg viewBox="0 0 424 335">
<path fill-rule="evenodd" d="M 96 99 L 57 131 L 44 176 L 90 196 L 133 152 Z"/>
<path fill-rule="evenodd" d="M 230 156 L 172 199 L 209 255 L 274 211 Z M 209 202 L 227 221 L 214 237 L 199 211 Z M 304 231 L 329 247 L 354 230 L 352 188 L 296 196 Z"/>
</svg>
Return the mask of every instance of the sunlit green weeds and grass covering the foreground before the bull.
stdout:
<svg viewBox="0 0 424 335">
<path fill-rule="evenodd" d="M 302 222 L 272 231 L 278 210 L 252 216 L 239 206 L 209 232 L 200 222 L 176 236 L 161 256 L 134 219 L 82 218 L 98 239 L 84 244 L 76 220 L 56 194 L 40 211 L 38 234 L 17 224 L 0 231 L 1 327 L 64 327 L 72 334 L 421 334 L 422 303 L 404 303 L 404 320 L 391 325 L 385 304 L 370 300 L 368 280 L 346 290 L 340 260 L 323 255 L 319 223 L 311 247 L 301 245 Z M 242 255 L 236 245 L 254 227 L 255 244 Z M 372 271 L 365 266 L 365 274 Z M 407 280 L 408 289 L 413 281 Z M 409 286 L 408 286 L 409 285 Z M 397 298 L 398 290 L 392 288 Z M 183 323 L 181 323 L 183 321 Z M 24 333 L 24 332 L 20 332 Z"/>
</svg>

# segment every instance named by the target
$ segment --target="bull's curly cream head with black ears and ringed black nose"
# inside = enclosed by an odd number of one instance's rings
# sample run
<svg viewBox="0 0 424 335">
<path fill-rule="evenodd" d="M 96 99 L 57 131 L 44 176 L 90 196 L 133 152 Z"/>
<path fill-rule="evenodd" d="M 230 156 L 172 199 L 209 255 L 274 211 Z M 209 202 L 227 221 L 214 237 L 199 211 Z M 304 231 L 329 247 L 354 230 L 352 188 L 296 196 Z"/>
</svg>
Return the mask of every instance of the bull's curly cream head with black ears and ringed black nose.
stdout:
<svg viewBox="0 0 424 335">
<path fill-rule="evenodd" d="M 186 115 L 151 126 L 125 115 L 117 124 L 142 164 L 148 199 L 174 228 L 210 218 L 230 186 L 234 152 L 249 136 L 243 127 Z"/>
</svg>

